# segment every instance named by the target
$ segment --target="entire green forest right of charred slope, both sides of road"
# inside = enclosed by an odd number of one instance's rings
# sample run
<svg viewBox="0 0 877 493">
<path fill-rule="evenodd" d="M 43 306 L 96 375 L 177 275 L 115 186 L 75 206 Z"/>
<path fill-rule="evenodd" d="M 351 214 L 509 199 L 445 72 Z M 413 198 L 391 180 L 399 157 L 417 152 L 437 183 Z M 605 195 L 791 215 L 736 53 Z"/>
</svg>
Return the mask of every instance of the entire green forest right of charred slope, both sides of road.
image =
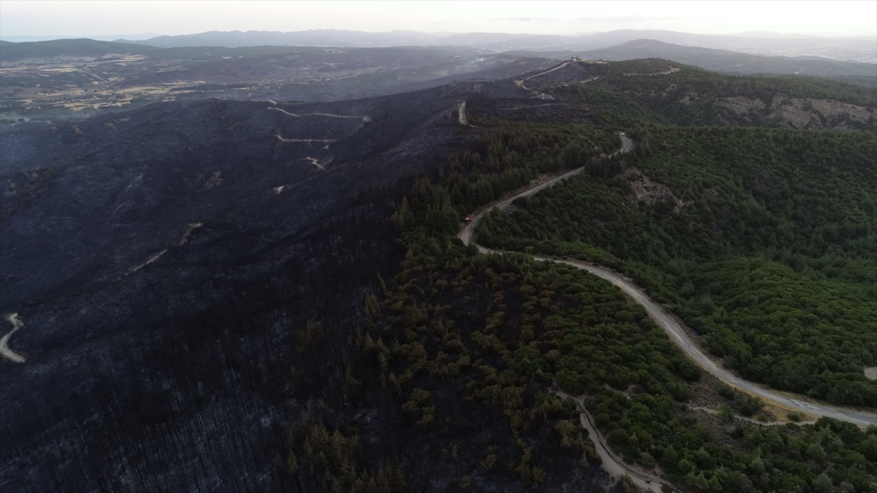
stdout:
<svg viewBox="0 0 877 493">
<path fill-rule="evenodd" d="M 840 82 L 782 83 L 793 96 L 863 97 Z M 862 371 L 877 365 L 877 136 L 694 125 L 601 84 L 554 90 L 602 125 L 516 122 L 474 107 L 480 137 L 436 175 L 412 178 L 391 218 L 404 261 L 378 296 L 366 295 L 343 393 L 354 410 L 380 410 L 394 423 L 387 435 L 418 454 L 379 454 L 317 408 L 287 440 L 299 487 L 432 488 L 404 474 L 414 467 L 454 478 L 449 489 L 478 490 L 486 477 L 533 490 L 588 481 L 600 457 L 574 403 L 553 395 L 559 386 L 586 396 L 624 461 L 686 491 L 877 490 L 877 426 L 772 416 L 757 398 L 710 384 L 608 282 L 529 256 L 631 275 L 747 379 L 877 407 L 877 382 Z M 619 128 L 634 153 L 600 157 L 619 145 Z M 581 166 L 586 173 L 482 220 L 481 245 L 518 254 L 479 254 L 455 237 L 482 205 Z M 309 326 L 299 351 L 319 337 Z M 715 400 L 716 416 L 689 406 L 699 394 Z M 382 454 L 380 470 L 367 468 L 370 454 Z"/>
</svg>

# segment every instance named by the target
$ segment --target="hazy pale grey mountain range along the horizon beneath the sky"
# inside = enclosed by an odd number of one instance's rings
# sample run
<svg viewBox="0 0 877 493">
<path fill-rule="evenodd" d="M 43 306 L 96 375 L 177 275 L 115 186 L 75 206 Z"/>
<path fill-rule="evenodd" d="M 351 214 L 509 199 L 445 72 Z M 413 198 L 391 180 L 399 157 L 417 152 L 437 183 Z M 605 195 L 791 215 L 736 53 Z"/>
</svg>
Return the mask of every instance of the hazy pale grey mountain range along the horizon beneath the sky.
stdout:
<svg viewBox="0 0 877 493">
<path fill-rule="evenodd" d="M 428 33 L 416 31 L 361 32 L 334 29 L 309 31 L 210 31 L 181 36 L 119 42 L 148 46 L 470 46 L 504 52 L 510 50 L 595 50 L 635 39 L 655 39 L 681 46 L 726 49 L 748 54 L 821 56 L 836 60 L 877 63 L 877 38 L 821 37 L 778 32 L 694 34 L 663 30 L 623 29 L 575 36 L 515 34 L 508 32 Z"/>
</svg>

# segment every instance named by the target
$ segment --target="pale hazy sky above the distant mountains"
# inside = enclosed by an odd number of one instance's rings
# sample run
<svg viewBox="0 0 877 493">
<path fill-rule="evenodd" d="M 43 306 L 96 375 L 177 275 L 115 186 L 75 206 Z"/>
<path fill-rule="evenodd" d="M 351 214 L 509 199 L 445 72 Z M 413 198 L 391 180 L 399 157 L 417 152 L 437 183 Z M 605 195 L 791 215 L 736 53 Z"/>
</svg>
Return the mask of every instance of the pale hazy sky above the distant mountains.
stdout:
<svg viewBox="0 0 877 493">
<path fill-rule="evenodd" d="M 575 34 L 615 29 L 877 35 L 877 0 L 852 1 L 46 1 L 0 0 L 0 38 L 204 31 Z"/>
</svg>

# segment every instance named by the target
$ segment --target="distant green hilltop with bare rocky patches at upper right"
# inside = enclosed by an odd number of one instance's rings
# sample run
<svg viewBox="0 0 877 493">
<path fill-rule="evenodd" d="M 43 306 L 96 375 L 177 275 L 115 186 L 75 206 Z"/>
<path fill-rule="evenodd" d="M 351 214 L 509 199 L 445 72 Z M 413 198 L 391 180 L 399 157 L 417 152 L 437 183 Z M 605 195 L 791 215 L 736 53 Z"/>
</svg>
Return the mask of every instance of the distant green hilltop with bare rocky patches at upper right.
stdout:
<svg viewBox="0 0 877 493">
<path fill-rule="evenodd" d="M 624 75 L 659 73 L 670 67 L 680 70 L 660 76 Z M 877 88 L 873 86 L 801 75 L 724 75 L 659 59 L 595 65 L 590 71 L 599 79 L 545 90 L 581 101 L 604 125 L 789 126 L 792 123 L 782 115 L 791 112 L 796 118 L 814 118 L 808 127 L 843 126 L 877 132 L 873 116 Z M 731 108 L 738 100 L 724 99 L 738 97 L 754 108 L 734 111 Z M 812 100 L 831 102 L 833 112 L 817 102 L 820 112 Z"/>
</svg>

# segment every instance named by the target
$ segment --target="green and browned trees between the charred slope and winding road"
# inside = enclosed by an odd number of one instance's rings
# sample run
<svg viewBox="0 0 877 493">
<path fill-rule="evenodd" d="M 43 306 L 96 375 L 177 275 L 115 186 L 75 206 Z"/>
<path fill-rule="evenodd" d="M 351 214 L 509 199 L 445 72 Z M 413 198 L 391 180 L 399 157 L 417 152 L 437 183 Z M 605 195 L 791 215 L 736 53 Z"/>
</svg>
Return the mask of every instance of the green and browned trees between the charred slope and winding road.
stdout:
<svg viewBox="0 0 877 493">
<path fill-rule="evenodd" d="M 535 125 L 490 132 L 480 148 L 453 158 L 441 175 L 414 182 L 393 216 L 406 260 L 382 302 L 367 303 L 369 321 L 354 342 L 357 353 L 364 354 L 358 364 L 376 368 L 380 382 L 354 379 L 349 391 L 387 389 L 397 410 L 392 412 L 420 431 L 406 436 L 424 433 L 439 439 L 441 454 L 432 449 L 431 456 L 418 461 L 435 461 L 436 467 L 453 471 L 463 489 L 472 488 L 482 475 L 508 475 L 532 489 L 550 489 L 548 482 L 556 475 L 571 475 L 599 461 L 593 445 L 583 441 L 571 403 L 560 405 L 547 393 L 553 382 L 589 396 L 588 409 L 624 461 L 660 468 L 686 489 L 831 491 L 837 485 L 866 491 L 877 486 L 877 427 L 861 432 L 821 419 L 816 425 L 759 428 L 738 422 L 728 432 L 710 429 L 685 404 L 700 370 L 620 291 L 574 268 L 519 254 L 477 254 L 453 238 L 460 214 L 474 208 L 468 197 L 478 195 L 476 183 L 492 185 L 482 199 L 502 196 L 517 187 L 518 175 L 560 170 L 555 168 L 557 153 L 551 151 L 564 154 L 561 140 L 566 149 L 595 143 L 587 136 L 576 141 L 559 135 L 558 129 Z M 507 155 L 531 159 L 488 166 Z M 558 190 L 564 194 L 590 182 L 597 179 L 572 180 Z M 552 202 L 555 193 L 547 193 L 544 202 Z M 542 194 L 522 201 L 519 213 Z M 591 207 L 601 208 L 605 198 L 598 197 Z M 581 213 L 581 208 L 564 206 L 570 208 L 568 215 L 552 214 L 568 218 Z M 495 213 L 483 238 L 498 239 L 500 225 L 515 227 L 499 218 L 516 216 Z M 557 225 L 553 218 L 544 219 L 546 229 Z M 576 245 L 503 239 L 506 247 L 522 250 Z M 350 375 L 369 373 L 374 370 L 357 367 Z M 641 391 L 626 392 L 631 388 Z M 732 391 L 720 394 L 734 397 Z M 753 404 L 758 406 L 755 401 L 744 408 Z M 474 416 L 471 406 L 492 410 L 508 436 L 475 434 L 471 419 L 460 417 Z M 322 425 L 314 426 L 324 433 Z M 466 433 L 470 443 L 474 436 L 483 441 L 464 454 L 456 444 Z M 338 440 L 343 442 L 343 436 Z M 290 464 L 301 464 L 300 453 L 291 450 Z M 342 489 L 356 481 L 355 466 L 337 470 L 333 478 L 352 471 L 338 480 Z M 370 481 L 380 480 L 362 475 L 362 484 Z"/>
</svg>

